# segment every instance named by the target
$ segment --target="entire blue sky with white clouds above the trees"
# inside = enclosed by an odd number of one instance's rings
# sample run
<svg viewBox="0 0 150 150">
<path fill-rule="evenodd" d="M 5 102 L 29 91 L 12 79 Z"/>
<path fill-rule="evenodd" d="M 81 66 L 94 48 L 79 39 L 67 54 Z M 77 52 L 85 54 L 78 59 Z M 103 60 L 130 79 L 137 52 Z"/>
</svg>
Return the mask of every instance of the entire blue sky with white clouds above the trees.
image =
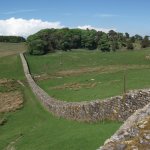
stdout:
<svg viewBox="0 0 150 150">
<path fill-rule="evenodd" d="M 149 0 L 1 0 L 0 35 L 63 27 L 150 35 L 149 7 Z"/>
</svg>

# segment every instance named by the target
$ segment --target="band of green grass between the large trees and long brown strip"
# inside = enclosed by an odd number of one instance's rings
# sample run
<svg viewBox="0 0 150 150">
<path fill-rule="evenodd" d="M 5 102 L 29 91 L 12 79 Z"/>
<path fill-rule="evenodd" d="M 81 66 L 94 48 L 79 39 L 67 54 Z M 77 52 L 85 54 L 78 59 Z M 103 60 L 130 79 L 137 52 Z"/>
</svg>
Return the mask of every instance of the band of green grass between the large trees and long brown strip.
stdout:
<svg viewBox="0 0 150 150">
<path fill-rule="evenodd" d="M 145 56 L 150 55 L 150 49 L 137 51 L 121 51 L 102 53 L 100 51 L 73 50 L 71 52 L 50 53 L 43 56 L 27 55 L 31 73 L 55 73 L 58 70 L 79 69 L 107 65 L 150 65 Z M 62 65 L 60 65 L 60 57 Z"/>
</svg>

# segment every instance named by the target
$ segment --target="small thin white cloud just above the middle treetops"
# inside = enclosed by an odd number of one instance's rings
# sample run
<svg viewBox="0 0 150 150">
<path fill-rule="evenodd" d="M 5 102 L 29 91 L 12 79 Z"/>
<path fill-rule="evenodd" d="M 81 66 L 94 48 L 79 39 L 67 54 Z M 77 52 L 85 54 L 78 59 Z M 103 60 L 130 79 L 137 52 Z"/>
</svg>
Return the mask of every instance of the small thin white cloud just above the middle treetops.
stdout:
<svg viewBox="0 0 150 150">
<path fill-rule="evenodd" d="M 106 33 L 108 33 L 110 30 L 114 30 L 114 31 L 117 30 L 115 28 L 97 28 L 97 27 L 93 27 L 91 25 L 78 26 L 78 28 L 79 29 L 84 29 L 84 30 L 86 30 L 86 29 L 94 29 L 96 31 L 103 31 L 103 32 L 106 32 Z"/>
</svg>

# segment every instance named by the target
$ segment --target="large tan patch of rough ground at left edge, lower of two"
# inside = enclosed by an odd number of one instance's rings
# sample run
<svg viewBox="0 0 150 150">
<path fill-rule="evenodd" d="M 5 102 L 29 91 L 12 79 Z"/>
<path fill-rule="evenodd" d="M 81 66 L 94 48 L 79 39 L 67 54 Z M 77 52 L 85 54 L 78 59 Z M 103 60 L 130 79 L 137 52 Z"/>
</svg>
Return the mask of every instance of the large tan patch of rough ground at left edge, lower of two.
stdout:
<svg viewBox="0 0 150 150">
<path fill-rule="evenodd" d="M 0 113 L 15 111 L 23 106 L 23 97 L 19 91 L 0 93 Z"/>
</svg>

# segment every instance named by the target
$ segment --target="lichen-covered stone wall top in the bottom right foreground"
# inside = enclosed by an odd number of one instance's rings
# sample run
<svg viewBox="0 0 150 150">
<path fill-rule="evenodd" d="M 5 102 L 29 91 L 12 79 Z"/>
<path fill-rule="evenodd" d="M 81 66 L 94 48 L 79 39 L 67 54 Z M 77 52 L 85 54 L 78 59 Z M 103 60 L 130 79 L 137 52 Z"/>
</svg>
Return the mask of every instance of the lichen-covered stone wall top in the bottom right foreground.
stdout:
<svg viewBox="0 0 150 150">
<path fill-rule="evenodd" d="M 130 116 L 99 150 L 150 150 L 150 104 Z"/>
</svg>

